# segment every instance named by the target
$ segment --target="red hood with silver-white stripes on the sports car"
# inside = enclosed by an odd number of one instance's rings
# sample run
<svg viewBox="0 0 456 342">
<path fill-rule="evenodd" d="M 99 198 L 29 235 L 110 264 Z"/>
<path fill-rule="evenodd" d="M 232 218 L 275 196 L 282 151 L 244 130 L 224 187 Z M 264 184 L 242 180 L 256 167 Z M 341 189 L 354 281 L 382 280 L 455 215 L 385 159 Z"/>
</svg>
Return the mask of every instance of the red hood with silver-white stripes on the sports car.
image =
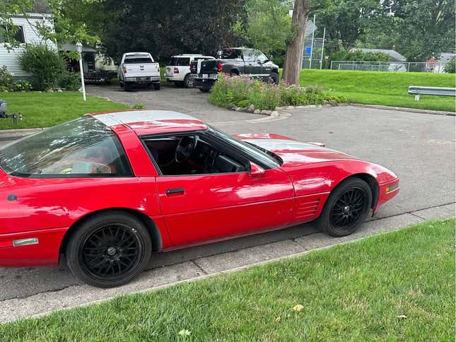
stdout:
<svg viewBox="0 0 456 342">
<path fill-rule="evenodd" d="M 236 137 L 276 153 L 283 160 L 282 168 L 285 169 L 333 160 L 358 160 L 353 155 L 319 146 L 318 143 L 302 143 L 277 134 L 238 134 Z"/>
</svg>

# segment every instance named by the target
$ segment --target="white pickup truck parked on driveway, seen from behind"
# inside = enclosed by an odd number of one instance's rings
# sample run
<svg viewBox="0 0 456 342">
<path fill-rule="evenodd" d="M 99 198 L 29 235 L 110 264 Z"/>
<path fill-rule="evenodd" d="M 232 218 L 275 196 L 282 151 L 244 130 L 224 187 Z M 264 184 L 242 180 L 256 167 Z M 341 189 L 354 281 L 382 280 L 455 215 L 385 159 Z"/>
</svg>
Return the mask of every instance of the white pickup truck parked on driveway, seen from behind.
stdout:
<svg viewBox="0 0 456 342">
<path fill-rule="evenodd" d="M 120 62 L 119 80 L 125 91 L 134 85 L 153 85 L 160 90 L 160 66 L 148 52 L 127 52 Z"/>
</svg>

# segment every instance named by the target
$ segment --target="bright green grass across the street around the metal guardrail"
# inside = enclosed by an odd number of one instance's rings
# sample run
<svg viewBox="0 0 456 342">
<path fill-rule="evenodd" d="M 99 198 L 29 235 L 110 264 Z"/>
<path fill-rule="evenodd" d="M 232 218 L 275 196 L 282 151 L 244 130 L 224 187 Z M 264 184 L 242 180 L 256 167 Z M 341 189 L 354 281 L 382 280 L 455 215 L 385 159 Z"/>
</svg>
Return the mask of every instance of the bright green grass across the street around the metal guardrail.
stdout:
<svg viewBox="0 0 456 342">
<path fill-rule="evenodd" d="M 415 101 L 407 93 L 409 86 L 455 88 L 454 73 L 302 70 L 300 84 L 323 86 L 353 103 L 455 112 L 455 98 L 423 95 Z"/>
</svg>

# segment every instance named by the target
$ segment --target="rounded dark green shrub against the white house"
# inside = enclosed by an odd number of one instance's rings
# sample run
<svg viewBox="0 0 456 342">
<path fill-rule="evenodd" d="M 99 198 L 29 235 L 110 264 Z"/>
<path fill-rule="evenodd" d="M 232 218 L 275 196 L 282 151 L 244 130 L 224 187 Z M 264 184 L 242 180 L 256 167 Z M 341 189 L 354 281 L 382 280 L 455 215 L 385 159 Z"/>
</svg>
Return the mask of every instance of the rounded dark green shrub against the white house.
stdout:
<svg viewBox="0 0 456 342">
<path fill-rule="evenodd" d="M 19 64 L 23 71 L 33 73 L 37 90 L 59 86 L 60 76 L 65 71 L 64 59 L 46 45 L 26 45 Z"/>
</svg>

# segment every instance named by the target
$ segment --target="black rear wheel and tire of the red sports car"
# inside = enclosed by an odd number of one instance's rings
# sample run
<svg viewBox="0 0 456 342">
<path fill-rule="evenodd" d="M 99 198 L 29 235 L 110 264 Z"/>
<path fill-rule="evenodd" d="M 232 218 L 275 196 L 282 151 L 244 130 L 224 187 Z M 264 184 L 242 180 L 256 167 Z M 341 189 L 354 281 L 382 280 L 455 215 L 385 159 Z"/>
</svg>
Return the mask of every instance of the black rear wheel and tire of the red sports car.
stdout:
<svg viewBox="0 0 456 342">
<path fill-rule="evenodd" d="M 151 252 L 146 226 L 129 213 L 110 211 L 78 226 L 65 256 L 71 271 L 84 283 L 114 288 L 138 276 Z"/>
</svg>

